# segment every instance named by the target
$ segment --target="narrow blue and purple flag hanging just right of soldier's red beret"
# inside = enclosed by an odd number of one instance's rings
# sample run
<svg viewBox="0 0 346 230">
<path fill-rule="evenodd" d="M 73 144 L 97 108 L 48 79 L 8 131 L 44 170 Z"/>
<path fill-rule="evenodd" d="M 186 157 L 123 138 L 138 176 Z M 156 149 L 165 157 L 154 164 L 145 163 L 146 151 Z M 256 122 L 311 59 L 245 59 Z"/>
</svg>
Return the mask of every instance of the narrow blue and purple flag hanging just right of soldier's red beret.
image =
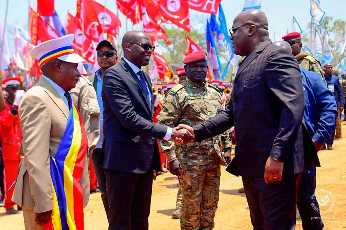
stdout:
<svg viewBox="0 0 346 230">
<path fill-rule="evenodd" d="M 214 78 L 216 80 L 220 80 L 222 71 L 222 66 L 220 62 L 220 58 L 215 45 L 215 38 L 213 36 L 213 32 L 211 30 L 209 19 L 207 20 L 207 52 L 210 67 L 213 69 Z"/>
</svg>

